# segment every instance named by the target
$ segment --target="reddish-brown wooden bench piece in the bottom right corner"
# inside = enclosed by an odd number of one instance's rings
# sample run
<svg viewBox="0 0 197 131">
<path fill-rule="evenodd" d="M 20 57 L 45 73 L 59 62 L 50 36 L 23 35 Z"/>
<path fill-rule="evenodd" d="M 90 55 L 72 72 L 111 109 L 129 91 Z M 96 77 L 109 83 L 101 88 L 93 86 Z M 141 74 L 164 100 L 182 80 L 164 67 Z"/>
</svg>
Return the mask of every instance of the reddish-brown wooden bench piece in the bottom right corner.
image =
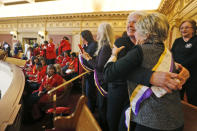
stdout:
<svg viewBox="0 0 197 131">
<path fill-rule="evenodd" d="M 197 131 L 197 106 L 182 101 L 184 111 L 184 131 Z"/>
</svg>

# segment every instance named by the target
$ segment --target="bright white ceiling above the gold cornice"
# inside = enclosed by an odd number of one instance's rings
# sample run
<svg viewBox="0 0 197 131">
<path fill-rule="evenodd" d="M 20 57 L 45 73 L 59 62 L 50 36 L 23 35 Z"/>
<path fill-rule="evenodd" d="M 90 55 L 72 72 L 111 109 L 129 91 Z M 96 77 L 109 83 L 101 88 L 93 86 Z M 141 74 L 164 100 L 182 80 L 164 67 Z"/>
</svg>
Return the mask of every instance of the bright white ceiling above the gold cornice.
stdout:
<svg viewBox="0 0 197 131">
<path fill-rule="evenodd" d="M 157 10 L 161 1 L 163 0 L 0 0 L 0 18 Z"/>
</svg>

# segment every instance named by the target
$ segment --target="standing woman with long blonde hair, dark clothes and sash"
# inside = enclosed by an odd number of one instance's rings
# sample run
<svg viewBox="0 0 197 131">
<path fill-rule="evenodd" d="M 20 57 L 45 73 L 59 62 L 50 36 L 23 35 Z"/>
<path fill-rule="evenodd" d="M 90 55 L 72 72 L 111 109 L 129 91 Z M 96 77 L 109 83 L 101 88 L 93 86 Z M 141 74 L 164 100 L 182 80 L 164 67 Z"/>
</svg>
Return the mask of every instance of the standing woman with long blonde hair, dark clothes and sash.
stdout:
<svg viewBox="0 0 197 131">
<path fill-rule="evenodd" d="M 97 31 L 98 48 L 95 53 L 95 57 L 91 57 L 88 53 L 84 52 L 83 57 L 94 68 L 95 83 L 98 88 L 98 111 L 99 111 L 99 123 L 104 131 L 107 131 L 107 97 L 105 95 L 107 91 L 107 83 L 103 78 L 103 69 L 107 60 L 111 56 L 111 51 L 114 43 L 114 33 L 110 24 L 101 23 Z M 103 91 L 104 90 L 104 91 Z"/>
</svg>

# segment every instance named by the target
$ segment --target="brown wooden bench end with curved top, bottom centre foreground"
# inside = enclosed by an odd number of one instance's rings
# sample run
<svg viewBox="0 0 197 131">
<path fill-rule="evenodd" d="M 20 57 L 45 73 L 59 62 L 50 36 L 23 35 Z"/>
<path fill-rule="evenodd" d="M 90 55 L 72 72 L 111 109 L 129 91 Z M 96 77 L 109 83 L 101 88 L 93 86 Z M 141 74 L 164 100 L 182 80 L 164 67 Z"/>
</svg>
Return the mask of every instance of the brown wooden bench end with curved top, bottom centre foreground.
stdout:
<svg viewBox="0 0 197 131">
<path fill-rule="evenodd" d="M 72 131 L 101 131 L 100 126 L 87 107 L 86 101 L 86 97 L 82 95 L 77 103 L 74 113 L 65 117 L 55 117 L 55 129 Z"/>
</svg>

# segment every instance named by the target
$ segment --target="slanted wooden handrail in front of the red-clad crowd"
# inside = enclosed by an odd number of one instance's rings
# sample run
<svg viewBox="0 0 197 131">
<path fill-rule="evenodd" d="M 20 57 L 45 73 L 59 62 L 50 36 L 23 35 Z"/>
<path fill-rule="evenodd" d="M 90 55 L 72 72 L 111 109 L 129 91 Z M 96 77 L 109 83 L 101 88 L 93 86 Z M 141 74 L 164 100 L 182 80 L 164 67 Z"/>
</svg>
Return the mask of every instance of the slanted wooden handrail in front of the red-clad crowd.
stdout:
<svg viewBox="0 0 197 131">
<path fill-rule="evenodd" d="M 86 72 L 84 72 L 84 73 L 82 73 L 82 74 L 80 74 L 80 75 L 78 75 L 78 76 L 76 76 L 76 77 L 70 79 L 69 81 L 66 81 L 66 82 L 62 83 L 61 85 L 59 85 L 59 86 L 57 86 L 57 87 L 55 87 L 55 88 L 49 90 L 49 91 L 47 92 L 47 94 L 51 94 L 51 93 L 57 91 L 58 89 L 62 88 L 63 86 L 66 86 L 66 85 L 70 84 L 70 83 L 73 82 L 74 80 L 76 80 L 76 79 L 82 77 L 83 75 L 85 75 L 85 74 L 87 74 L 87 73 L 89 73 L 89 72 L 90 72 L 90 71 L 86 71 Z"/>
</svg>

